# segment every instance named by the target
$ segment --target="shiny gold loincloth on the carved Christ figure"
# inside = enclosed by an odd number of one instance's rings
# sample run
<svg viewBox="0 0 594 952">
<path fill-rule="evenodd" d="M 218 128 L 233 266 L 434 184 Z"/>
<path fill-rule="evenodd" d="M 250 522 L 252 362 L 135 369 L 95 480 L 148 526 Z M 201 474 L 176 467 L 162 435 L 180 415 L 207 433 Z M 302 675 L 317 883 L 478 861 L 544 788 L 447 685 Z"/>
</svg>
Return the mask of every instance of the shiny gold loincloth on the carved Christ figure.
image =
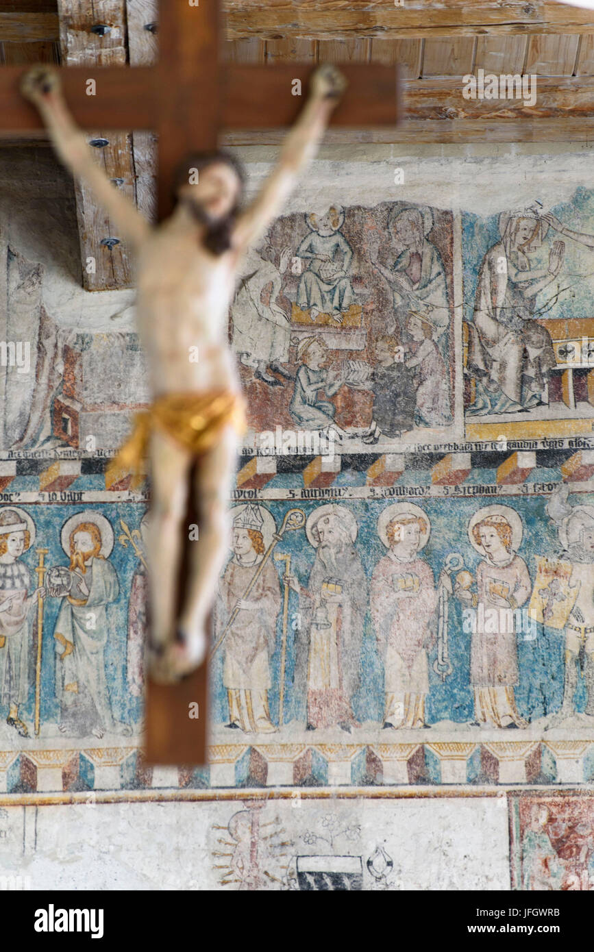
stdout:
<svg viewBox="0 0 594 952">
<path fill-rule="evenodd" d="M 244 400 L 230 390 L 209 390 L 206 393 L 166 393 L 157 397 L 151 407 L 134 417 L 134 426 L 128 440 L 120 446 L 106 469 L 108 485 L 123 475 L 132 473 L 130 487 L 142 483 L 142 461 L 148 452 L 150 433 L 163 430 L 172 440 L 188 449 L 193 457 L 200 456 L 217 441 L 225 426 L 233 426 L 238 433 L 246 429 Z"/>
</svg>

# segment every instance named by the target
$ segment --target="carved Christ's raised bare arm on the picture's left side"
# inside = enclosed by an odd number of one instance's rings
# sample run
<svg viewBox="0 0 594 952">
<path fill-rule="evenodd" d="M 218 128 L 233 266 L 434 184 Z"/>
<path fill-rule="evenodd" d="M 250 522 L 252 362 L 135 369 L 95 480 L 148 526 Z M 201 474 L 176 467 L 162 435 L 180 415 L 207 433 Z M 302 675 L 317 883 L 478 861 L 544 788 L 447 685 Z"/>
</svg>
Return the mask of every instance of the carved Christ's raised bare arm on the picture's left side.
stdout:
<svg viewBox="0 0 594 952">
<path fill-rule="evenodd" d="M 77 178 L 87 182 L 97 203 L 106 209 L 122 236 L 138 247 L 150 229 L 148 221 L 93 161 L 89 144 L 64 101 L 57 72 L 46 66 L 33 67 L 25 74 L 21 90 L 39 109 L 53 147 L 64 165 Z"/>
</svg>

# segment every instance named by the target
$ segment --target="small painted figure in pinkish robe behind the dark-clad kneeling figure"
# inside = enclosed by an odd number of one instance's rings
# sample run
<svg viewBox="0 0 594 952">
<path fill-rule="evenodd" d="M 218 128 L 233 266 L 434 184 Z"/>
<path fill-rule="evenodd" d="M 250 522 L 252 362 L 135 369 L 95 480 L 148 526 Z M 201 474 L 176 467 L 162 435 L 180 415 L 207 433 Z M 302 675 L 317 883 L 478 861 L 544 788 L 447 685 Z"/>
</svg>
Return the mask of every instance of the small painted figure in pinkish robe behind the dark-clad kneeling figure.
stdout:
<svg viewBox="0 0 594 952">
<path fill-rule="evenodd" d="M 447 426 L 451 423 L 447 371 L 433 340 L 433 327 L 423 314 L 411 311 L 406 330 L 412 338 L 412 343 L 406 346 L 410 353 L 406 367 L 413 372 L 415 423 L 417 426 Z"/>
</svg>

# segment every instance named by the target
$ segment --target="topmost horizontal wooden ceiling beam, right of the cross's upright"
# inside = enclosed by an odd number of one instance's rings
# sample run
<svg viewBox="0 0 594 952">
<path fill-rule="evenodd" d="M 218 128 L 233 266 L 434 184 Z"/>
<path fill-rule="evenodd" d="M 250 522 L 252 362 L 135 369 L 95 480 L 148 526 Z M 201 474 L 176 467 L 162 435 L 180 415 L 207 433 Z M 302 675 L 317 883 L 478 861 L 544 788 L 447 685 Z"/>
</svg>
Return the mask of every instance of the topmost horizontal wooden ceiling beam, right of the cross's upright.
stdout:
<svg viewBox="0 0 594 952">
<path fill-rule="evenodd" d="M 554 0 L 226 0 L 229 40 L 591 33 L 594 11 Z"/>
</svg>

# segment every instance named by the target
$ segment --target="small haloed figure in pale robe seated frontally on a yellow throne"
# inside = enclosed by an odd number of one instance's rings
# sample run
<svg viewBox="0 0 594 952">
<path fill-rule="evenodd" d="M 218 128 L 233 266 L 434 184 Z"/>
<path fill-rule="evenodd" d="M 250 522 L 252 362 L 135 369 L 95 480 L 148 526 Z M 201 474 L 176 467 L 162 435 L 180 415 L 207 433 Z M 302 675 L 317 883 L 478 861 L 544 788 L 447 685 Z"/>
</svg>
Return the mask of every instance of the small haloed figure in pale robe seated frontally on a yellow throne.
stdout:
<svg viewBox="0 0 594 952">
<path fill-rule="evenodd" d="M 349 272 L 353 250 L 340 228 L 345 212 L 340 206 L 330 206 L 318 217 L 307 213 L 308 234 L 295 255 L 307 262 L 297 288 L 297 304 L 308 310 L 312 321 L 318 314 L 330 314 L 342 324 L 343 313 L 354 303 Z"/>
</svg>

